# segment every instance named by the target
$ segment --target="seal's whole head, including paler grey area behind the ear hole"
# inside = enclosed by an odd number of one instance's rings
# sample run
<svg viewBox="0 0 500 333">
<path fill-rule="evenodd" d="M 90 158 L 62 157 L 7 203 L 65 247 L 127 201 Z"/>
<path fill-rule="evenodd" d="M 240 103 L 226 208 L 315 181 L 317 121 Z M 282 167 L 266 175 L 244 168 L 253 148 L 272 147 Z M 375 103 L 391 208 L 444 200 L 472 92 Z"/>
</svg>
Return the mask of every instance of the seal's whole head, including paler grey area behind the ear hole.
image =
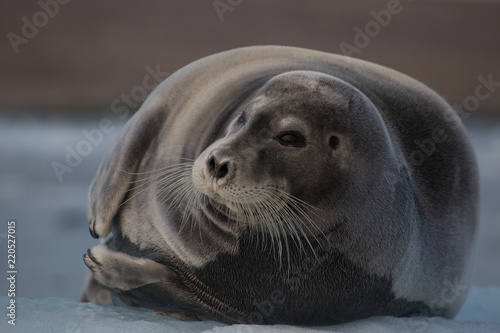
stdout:
<svg viewBox="0 0 500 333">
<path fill-rule="evenodd" d="M 386 162 L 372 163 L 380 158 Z M 367 179 L 384 172 L 374 165 L 390 160 L 385 127 L 360 91 L 327 74 L 293 71 L 235 111 L 195 160 L 192 181 L 232 221 L 310 236 L 332 224 L 314 218 L 315 209 L 341 209 L 353 189 L 374 186 Z"/>
</svg>

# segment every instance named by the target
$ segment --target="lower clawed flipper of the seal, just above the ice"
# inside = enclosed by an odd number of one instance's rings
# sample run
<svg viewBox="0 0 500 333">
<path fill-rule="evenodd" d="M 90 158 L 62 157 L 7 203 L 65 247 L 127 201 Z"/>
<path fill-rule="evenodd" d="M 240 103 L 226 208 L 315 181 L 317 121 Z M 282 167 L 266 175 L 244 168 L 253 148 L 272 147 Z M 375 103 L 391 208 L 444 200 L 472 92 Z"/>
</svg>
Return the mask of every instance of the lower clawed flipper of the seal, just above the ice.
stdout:
<svg viewBox="0 0 500 333">
<path fill-rule="evenodd" d="M 139 305 L 183 320 L 216 319 L 242 323 L 238 310 L 180 267 L 132 257 L 97 245 L 83 256 L 94 279 L 129 305 Z"/>
</svg>

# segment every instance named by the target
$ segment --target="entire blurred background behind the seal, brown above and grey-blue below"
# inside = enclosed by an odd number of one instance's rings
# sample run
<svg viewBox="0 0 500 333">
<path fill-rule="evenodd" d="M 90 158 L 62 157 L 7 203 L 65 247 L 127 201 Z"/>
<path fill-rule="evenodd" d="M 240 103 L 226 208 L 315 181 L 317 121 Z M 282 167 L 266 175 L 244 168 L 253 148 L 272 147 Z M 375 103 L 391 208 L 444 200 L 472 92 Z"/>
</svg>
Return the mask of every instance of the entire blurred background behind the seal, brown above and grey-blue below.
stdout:
<svg viewBox="0 0 500 333">
<path fill-rule="evenodd" d="M 78 299 L 87 190 L 125 121 L 182 66 L 276 44 L 394 68 L 461 110 L 481 173 L 473 284 L 500 285 L 499 18 L 498 1 L 3 0 L 2 271 L 15 219 L 17 296 Z"/>
</svg>

